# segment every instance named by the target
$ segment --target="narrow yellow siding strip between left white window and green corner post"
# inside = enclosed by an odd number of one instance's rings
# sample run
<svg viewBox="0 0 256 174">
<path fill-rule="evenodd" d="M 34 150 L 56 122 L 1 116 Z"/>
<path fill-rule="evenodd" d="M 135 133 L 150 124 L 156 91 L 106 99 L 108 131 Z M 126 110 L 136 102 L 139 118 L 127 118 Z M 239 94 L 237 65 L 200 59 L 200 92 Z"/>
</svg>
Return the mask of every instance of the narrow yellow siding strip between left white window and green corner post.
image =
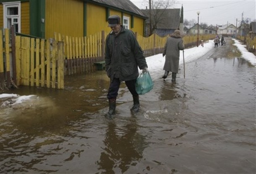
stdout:
<svg viewBox="0 0 256 174">
<path fill-rule="evenodd" d="M 30 34 L 29 2 L 21 3 L 21 33 Z"/>
</svg>

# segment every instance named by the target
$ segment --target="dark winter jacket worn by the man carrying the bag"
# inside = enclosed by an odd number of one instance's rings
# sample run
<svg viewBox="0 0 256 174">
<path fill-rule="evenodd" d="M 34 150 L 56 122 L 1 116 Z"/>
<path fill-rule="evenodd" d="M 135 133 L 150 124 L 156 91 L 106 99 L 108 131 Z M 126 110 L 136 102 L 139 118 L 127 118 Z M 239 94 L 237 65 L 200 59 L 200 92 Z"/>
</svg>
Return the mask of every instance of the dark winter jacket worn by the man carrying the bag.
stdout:
<svg viewBox="0 0 256 174">
<path fill-rule="evenodd" d="M 128 81 L 138 77 L 139 69 L 147 67 L 143 51 L 131 30 L 121 26 L 115 35 L 112 31 L 107 35 L 105 48 L 105 70 L 112 80 Z"/>
</svg>

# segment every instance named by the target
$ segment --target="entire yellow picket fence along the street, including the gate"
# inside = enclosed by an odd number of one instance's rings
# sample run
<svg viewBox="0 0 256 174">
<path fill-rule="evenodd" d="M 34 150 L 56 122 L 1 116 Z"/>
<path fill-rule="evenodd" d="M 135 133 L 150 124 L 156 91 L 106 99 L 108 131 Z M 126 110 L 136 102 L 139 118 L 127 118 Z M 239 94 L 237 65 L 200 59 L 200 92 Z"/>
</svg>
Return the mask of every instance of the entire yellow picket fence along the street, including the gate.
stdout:
<svg viewBox="0 0 256 174">
<path fill-rule="evenodd" d="M 55 33 L 54 38 L 44 40 L 12 34 L 5 29 L 5 38 L 0 31 L 0 87 L 10 87 L 12 82 L 19 85 L 63 89 L 64 76 L 83 74 L 97 70 L 95 64 L 104 63 L 106 31 L 90 36 L 72 37 Z M 135 33 L 144 56 L 162 53 L 168 36 L 153 34 L 143 37 Z M 199 35 L 207 41 L 215 35 Z M 14 42 L 13 42 L 14 40 Z M 185 47 L 196 44 L 197 36 L 184 36 Z M 12 43 L 12 44 L 10 44 Z M 13 44 L 14 43 L 14 44 Z M 10 56 L 10 54 L 12 54 Z M 10 61 L 11 60 L 11 61 Z M 11 70 L 12 69 L 12 70 Z"/>
</svg>

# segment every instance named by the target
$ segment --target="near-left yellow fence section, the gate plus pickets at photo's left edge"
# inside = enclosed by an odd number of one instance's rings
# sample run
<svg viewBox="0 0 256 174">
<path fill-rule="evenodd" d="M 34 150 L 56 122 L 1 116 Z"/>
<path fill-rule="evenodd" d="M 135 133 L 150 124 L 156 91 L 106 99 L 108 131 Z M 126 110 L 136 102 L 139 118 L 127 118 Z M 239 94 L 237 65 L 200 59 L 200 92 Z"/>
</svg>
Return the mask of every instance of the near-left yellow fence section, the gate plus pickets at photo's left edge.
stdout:
<svg viewBox="0 0 256 174">
<path fill-rule="evenodd" d="M 6 87 L 5 82 L 13 83 L 13 77 L 16 79 L 16 84 L 13 84 L 15 86 L 64 88 L 63 42 L 14 36 L 12 37 L 14 44 L 11 44 L 10 49 L 9 29 L 5 29 L 4 39 L 0 31 L 0 41 L 5 41 L 5 47 L 0 44 L 0 51 L 3 53 L 0 54 L 2 89 L 9 88 L 8 85 Z M 15 71 L 11 72 L 10 66 Z"/>
</svg>

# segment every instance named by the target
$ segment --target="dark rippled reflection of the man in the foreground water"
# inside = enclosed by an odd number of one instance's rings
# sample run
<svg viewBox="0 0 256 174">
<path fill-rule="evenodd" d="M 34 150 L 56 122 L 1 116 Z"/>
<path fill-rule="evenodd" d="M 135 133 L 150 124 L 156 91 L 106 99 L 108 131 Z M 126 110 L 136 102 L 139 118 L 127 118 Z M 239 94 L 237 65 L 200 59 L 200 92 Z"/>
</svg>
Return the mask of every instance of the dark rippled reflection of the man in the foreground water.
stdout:
<svg viewBox="0 0 256 174">
<path fill-rule="evenodd" d="M 138 133 L 138 125 L 131 120 L 118 127 L 115 122 L 108 123 L 98 170 L 106 174 L 124 173 L 130 166 L 136 166 L 143 157 L 147 146 L 145 137 Z M 120 171 L 117 171 L 120 170 Z"/>
</svg>

